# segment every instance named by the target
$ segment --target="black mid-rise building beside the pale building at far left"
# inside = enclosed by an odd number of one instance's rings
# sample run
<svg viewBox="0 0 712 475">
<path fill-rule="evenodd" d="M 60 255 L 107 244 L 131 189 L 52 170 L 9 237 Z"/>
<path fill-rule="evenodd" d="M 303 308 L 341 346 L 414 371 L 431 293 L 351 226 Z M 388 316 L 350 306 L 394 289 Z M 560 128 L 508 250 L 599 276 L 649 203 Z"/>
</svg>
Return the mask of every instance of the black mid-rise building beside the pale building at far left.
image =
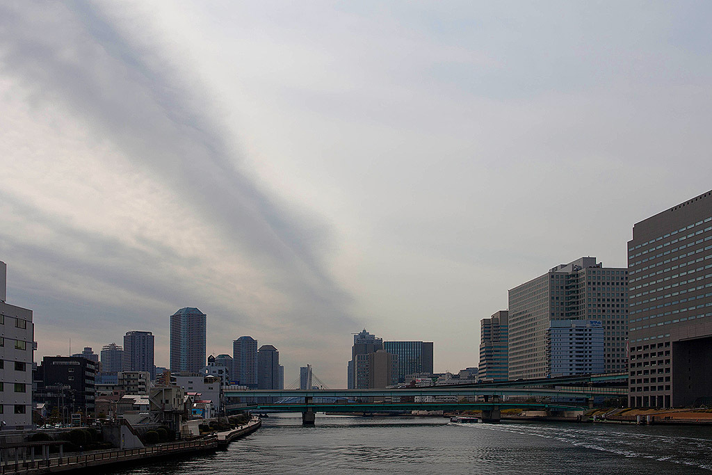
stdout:
<svg viewBox="0 0 712 475">
<path fill-rule="evenodd" d="M 94 414 L 97 364 L 85 357 L 46 356 L 42 358 L 43 399 L 50 408 L 57 408 L 64 420 L 69 414 L 82 411 Z"/>
</svg>

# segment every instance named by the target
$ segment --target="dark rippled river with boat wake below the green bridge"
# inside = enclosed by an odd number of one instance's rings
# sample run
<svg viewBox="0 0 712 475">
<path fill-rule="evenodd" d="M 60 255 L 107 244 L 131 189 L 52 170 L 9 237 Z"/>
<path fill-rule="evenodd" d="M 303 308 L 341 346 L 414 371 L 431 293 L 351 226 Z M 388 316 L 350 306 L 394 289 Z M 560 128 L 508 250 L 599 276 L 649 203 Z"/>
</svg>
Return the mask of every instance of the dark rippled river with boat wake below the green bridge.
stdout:
<svg viewBox="0 0 712 475">
<path fill-rule="evenodd" d="M 712 428 L 272 414 L 227 451 L 112 473 L 710 474 Z"/>
</svg>

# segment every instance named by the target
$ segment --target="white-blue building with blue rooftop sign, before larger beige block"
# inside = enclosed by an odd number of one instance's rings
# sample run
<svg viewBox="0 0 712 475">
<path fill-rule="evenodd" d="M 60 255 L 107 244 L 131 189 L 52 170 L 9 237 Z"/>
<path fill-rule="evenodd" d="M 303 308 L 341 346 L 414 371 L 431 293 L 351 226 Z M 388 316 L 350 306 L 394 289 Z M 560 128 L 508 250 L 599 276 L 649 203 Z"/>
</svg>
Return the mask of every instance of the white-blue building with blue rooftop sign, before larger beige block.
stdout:
<svg viewBox="0 0 712 475">
<path fill-rule="evenodd" d="M 600 320 L 551 320 L 546 342 L 548 376 L 603 372 L 604 335 Z"/>
</svg>

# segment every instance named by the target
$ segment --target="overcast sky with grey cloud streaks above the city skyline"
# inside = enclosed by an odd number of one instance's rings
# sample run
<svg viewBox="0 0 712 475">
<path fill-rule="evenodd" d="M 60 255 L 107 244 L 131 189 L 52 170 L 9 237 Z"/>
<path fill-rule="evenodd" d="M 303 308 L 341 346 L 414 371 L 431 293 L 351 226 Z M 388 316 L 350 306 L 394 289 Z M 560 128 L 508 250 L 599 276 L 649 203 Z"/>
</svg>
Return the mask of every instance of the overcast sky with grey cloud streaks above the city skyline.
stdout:
<svg viewBox="0 0 712 475">
<path fill-rule="evenodd" d="M 207 315 L 285 383 L 352 333 L 477 365 L 559 263 L 712 188 L 706 1 L 0 4 L 0 261 L 36 360 Z"/>
</svg>

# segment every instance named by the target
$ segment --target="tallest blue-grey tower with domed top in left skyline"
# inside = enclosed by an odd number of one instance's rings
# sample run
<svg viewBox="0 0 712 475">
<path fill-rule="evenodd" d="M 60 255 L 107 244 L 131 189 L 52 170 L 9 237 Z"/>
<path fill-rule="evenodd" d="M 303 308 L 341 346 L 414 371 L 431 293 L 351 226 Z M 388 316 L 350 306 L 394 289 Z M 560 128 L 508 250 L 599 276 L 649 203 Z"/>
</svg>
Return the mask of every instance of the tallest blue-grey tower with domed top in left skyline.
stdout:
<svg viewBox="0 0 712 475">
<path fill-rule="evenodd" d="M 171 315 L 171 372 L 197 373 L 205 367 L 206 315 L 194 307 Z"/>
</svg>

